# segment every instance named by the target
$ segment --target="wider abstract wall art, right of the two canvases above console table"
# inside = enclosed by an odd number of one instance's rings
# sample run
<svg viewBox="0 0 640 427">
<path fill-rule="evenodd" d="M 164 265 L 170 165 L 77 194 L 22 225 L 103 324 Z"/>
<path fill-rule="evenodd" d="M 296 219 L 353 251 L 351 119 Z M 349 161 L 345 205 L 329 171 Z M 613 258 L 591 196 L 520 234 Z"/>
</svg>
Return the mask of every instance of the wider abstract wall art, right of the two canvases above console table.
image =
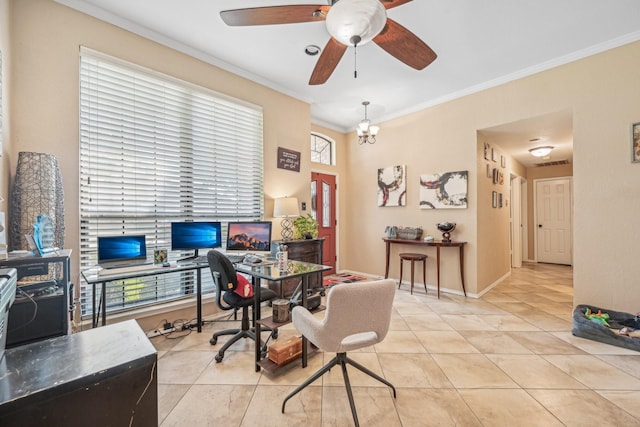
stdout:
<svg viewBox="0 0 640 427">
<path fill-rule="evenodd" d="M 421 209 L 465 209 L 468 171 L 420 175 Z"/>
</svg>

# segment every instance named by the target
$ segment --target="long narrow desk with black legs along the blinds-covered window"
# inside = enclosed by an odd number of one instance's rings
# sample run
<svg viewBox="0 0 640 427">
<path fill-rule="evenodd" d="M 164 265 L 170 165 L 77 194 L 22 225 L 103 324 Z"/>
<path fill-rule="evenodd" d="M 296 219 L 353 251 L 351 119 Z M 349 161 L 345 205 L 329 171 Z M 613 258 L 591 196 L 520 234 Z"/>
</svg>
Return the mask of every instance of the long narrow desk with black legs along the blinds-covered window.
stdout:
<svg viewBox="0 0 640 427">
<path fill-rule="evenodd" d="M 161 274 L 177 273 L 181 271 L 195 271 L 196 272 L 196 307 L 197 307 L 197 322 L 198 332 L 202 332 L 202 272 L 203 268 L 209 268 L 207 262 L 179 262 L 175 267 L 160 267 L 149 265 L 148 269 L 138 270 L 128 273 L 116 273 L 116 274 L 98 274 L 97 269 L 90 269 L 82 271 L 82 277 L 84 280 L 92 286 L 92 325 L 98 326 L 98 320 L 100 319 L 100 311 L 102 311 L 102 326 L 107 324 L 107 283 L 114 282 L 116 280 L 137 279 L 146 276 L 158 276 Z M 100 307 L 96 310 L 96 285 L 101 285 L 100 293 Z"/>
</svg>

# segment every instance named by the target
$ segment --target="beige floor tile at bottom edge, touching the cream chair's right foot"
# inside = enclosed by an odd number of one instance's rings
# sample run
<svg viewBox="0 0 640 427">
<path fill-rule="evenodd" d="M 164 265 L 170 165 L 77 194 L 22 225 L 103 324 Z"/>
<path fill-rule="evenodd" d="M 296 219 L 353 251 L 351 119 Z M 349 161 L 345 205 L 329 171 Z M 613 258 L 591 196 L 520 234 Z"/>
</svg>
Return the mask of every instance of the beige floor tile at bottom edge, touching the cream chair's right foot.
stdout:
<svg viewBox="0 0 640 427">
<path fill-rule="evenodd" d="M 403 427 L 480 427 L 482 424 L 453 389 L 398 389 L 396 408 Z"/>
</svg>

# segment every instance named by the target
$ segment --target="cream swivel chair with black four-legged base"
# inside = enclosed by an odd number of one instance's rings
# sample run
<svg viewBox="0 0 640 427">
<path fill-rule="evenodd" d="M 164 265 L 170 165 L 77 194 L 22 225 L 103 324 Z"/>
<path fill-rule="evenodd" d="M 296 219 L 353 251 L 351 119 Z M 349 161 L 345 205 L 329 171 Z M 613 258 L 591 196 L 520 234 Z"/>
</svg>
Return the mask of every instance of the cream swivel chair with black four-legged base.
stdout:
<svg viewBox="0 0 640 427">
<path fill-rule="evenodd" d="M 327 294 L 327 310 L 323 319 L 314 317 L 303 307 L 294 307 L 291 313 L 293 325 L 302 335 L 320 350 L 337 354 L 284 399 L 282 413 L 289 399 L 335 365 L 340 365 L 342 368 L 349 405 L 356 426 L 359 426 L 358 414 L 347 374 L 347 364 L 391 387 L 393 397 L 396 397 L 396 389 L 390 382 L 347 356 L 347 351 L 374 345 L 387 335 L 395 289 L 395 282 L 391 279 L 333 286 Z"/>
</svg>

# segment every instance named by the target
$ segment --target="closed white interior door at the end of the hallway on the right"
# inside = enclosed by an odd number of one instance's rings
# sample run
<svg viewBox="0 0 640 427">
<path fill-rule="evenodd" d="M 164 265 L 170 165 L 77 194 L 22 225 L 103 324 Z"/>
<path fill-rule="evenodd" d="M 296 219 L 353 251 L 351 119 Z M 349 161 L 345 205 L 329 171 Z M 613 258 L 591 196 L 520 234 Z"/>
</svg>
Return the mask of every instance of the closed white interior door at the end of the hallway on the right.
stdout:
<svg viewBox="0 0 640 427">
<path fill-rule="evenodd" d="M 537 261 L 571 265 L 571 178 L 535 181 Z"/>
</svg>

